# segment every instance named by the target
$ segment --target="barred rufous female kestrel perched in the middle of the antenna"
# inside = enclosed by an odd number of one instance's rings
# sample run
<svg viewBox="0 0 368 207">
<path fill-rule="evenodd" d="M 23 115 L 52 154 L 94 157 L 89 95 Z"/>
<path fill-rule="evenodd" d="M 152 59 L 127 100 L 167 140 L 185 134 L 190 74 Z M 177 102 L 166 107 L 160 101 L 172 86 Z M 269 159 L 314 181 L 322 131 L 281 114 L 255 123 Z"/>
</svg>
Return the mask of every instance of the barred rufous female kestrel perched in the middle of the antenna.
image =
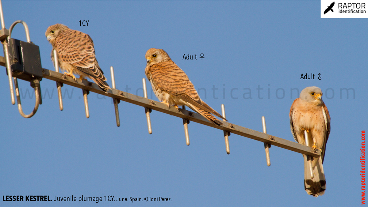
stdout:
<svg viewBox="0 0 368 207">
<path fill-rule="evenodd" d="M 178 106 L 188 106 L 213 124 L 223 125 L 212 114 L 225 118 L 202 101 L 187 74 L 170 59 L 164 50 L 155 48 L 147 50 L 146 60 L 146 76 L 151 82 L 153 92 L 162 103 L 167 107 L 173 105 L 176 109 Z"/>
</svg>

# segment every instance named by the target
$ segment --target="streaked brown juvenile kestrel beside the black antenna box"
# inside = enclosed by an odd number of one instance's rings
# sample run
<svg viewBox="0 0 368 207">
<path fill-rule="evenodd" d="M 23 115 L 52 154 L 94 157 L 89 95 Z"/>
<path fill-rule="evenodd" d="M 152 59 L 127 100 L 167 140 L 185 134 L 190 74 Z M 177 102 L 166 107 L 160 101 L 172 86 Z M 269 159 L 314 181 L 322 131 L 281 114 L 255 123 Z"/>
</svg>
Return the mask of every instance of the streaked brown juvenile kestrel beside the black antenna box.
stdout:
<svg viewBox="0 0 368 207">
<path fill-rule="evenodd" d="M 81 80 L 84 76 L 89 77 L 105 92 L 110 88 L 96 60 L 95 48 L 89 35 L 69 29 L 63 24 L 49 26 L 45 35 L 57 52 L 59 66 L 66 71 L 64 74 L 72 76 L 74 80 L 73 73 L 80 75 Z M 52 52 L 51 59 L 54 61 Z"/>
</svg>

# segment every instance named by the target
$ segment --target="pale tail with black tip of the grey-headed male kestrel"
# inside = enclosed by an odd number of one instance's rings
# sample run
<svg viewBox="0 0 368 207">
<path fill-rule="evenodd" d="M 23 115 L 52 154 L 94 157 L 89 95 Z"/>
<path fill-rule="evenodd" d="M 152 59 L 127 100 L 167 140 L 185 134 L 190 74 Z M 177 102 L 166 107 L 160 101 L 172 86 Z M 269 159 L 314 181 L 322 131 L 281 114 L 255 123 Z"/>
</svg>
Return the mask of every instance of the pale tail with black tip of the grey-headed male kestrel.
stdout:
<svg viewBox="0 0 368 207">
<path fill-rule="evenodd" d="M 323 165 L 321 157 L 315 158 L 312 161 L 313 167 L 313 175 L 314 178 L 311 178 L 311 174 L 309 171 L 309 164 L 307 161 L 307 156 L 304 157 L 304 189 L 307 191 L 309 195 L 318 197 L 325 194 L 326 190 L 326 178 L 325 172 L 323 172 Z"/>
</svg>

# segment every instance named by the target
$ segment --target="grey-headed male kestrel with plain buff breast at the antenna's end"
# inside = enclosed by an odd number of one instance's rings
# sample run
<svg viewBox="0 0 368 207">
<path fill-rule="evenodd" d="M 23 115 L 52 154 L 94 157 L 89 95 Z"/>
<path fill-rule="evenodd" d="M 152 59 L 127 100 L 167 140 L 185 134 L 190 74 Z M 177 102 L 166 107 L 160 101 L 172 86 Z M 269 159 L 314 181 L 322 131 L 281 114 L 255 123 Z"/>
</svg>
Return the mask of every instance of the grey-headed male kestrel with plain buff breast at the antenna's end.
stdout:
<svg viewBox="0 0 368 207">
<path fill-rule="evenodd" d="M 321 157 L 312 158 L 314 178 L 311 178 L 307 156 L 304 157 L 304 188 L 309 195 L 318 197 L 325 193 L 326 179 L 323 172 L 326 143 L 330 135 L 330 114 L 322 101 L 320 88 L 312 86 L 303 89 L 299 98 L 290 108 L 290 129 L 294 139 L 305 145 L 304 130 L 308 132 L 308 143 L 321 150 Z"/>
</svg>

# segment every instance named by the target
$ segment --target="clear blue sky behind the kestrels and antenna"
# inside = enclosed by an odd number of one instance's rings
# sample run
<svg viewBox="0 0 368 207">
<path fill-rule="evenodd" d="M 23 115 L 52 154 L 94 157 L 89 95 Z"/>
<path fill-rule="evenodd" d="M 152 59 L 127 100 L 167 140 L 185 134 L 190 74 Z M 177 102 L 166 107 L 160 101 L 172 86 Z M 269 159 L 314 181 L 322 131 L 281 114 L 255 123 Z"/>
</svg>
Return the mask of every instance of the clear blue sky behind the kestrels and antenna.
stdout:
<svg viewBox="0 0 368 207">
<path fill-rule="evenodd" d="M 102 197 L 95 202 L 4 202 L 1 206 L 360 206 L 360 134 L 367 130 L 367 19 L 321 19 L 320 1 L 2 1 L 6 27 L 21 19 L 40 47 L 42 67 L 54 70 L 48 26 L 87 33 L 110 81 L 143 96 L 145 53 L 165 50 L 189 76 L 201 98 L 229 122 L 292 140 L 289 110 L 307 86 L 322 89 L 331 115 L 324 170 L 326 193 L 304 190 L 301 154 L 270 148 L 191 122 L 190 146 L 182 119 L 121 102 L 117 127 L 110 98 L 90 93 L 85 118 L 81 89 L 41 81 L 43 104 L 32 118 L 11 105 L 5 68 L 0 75 L 0 195 Z M 79 20 L 88 20 L 80 26 Z M 21 25 L 13 38 L 25 40 Z M 183 54 L 204 54 L 183 60 Z M 301 80 L 301 74 L 315 74 Z M 322 79 L 318 80 L 318 74 Z M 296 89 L 299 92 L 297 92 Z M 350 89 L 347 97 L 346 90 Z M 22 106 L 34 97 L 20 81 Z M 199 90 L 201 89 L 201 90 Z M 293 93 L 291 93 L 291 89 Z M 49 92 L 49 93 L 46 93 Z M 68 94 L 67 94 L 68 92 Z M 232 93 L 231 93 L 232 92 Z M 353 92 L 355 92 L 353 94 Z M 32 93 L 31 93 L 32 94 Z M 355 96 L 354 96 L 355 95 Z M 158 100 L 151 88 L 148 97 Z M 105 196 L 169 197 L 170 202 L 107 202 Z"/>
</svg>

